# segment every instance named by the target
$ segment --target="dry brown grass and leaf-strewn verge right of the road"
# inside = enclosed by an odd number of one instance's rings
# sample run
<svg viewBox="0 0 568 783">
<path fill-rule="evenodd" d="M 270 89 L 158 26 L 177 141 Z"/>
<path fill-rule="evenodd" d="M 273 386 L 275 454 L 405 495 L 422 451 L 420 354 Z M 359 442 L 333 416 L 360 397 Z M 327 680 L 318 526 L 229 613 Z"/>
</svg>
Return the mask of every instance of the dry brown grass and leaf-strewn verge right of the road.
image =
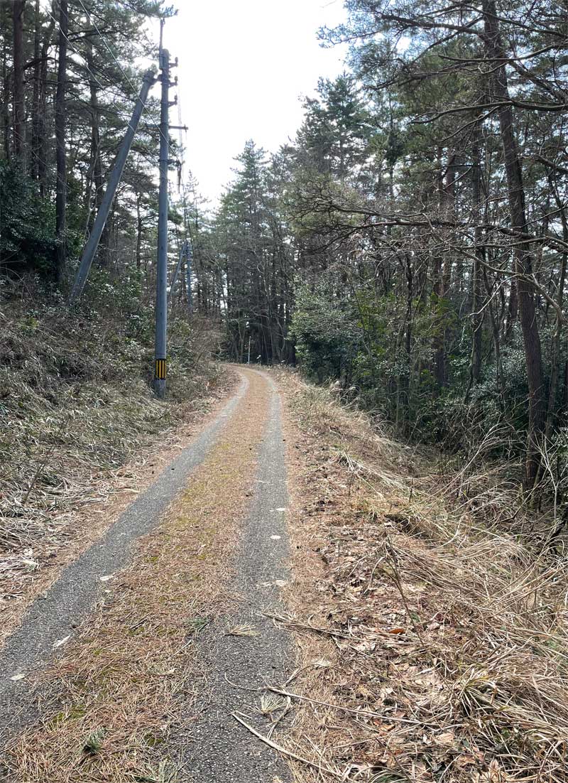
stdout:
<svg viewBox="0 0 568 783">
<path fill-rule="evenodd" d="M 506 477 L 435 470 L 283 373 L 298 783 L 566 781 L 566 561 Z M 498 472 L 498 471 L 497 471 Z M 537 546 L 538 544 L 538 546 Z"/>
</svg>

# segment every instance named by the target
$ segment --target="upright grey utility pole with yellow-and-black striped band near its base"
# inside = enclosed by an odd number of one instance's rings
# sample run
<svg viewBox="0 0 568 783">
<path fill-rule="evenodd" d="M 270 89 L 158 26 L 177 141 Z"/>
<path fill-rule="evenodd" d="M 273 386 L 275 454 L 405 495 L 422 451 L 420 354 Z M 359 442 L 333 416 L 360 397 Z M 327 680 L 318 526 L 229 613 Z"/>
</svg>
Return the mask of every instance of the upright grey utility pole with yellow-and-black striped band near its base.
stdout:
<svg viewBox="0 0 568 783">
<path fill-rule="evenodd" d="M 158 197 L 158 258 L 156 265 L 156 343 L 154 353 L 154 392 L 164 399 L 166 394 L 167 357 L 167 164 L 170 149 L 170 52 L 160 49 L 160 193 Z"/>
</svg>

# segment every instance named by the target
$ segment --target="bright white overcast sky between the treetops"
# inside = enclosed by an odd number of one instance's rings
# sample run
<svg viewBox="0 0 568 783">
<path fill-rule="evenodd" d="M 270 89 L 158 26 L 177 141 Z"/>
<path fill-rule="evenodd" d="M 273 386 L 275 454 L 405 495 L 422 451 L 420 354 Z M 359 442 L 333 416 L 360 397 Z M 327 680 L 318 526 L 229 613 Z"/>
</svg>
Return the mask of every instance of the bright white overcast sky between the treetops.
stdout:
<svg viewBox="0 0 568 783">
<path fill-rule="evenodd" d="M 345 50 L 322 49 L 318 27 L 343 21 L 341 0 L 178 0 L 164 46 L 178 57 L 188 125 L 186 162 L 214 201 L 246 139 L 278 150 L 302 119 L 300 96 L 343 70 Z M 174 71 L 175 73 L 176 71 Z M 171 124 L 178 124 L 171 110 Z M 172 134 L 173 135 L 173 134 Z"/>
</svg>

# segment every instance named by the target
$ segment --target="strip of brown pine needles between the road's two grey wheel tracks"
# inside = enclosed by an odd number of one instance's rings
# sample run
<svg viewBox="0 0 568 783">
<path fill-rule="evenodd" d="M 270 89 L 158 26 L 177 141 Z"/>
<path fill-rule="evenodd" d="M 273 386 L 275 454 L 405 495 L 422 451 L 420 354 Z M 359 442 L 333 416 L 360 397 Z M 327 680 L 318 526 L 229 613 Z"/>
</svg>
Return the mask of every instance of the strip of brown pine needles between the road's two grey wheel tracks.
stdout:
<svg viewBox="0 0 568 783">
<path fill-rule="evenodd" d="M 192 637 L 232 600 L 236 522 L 267 410 L 268 387 L 251 375 L 221 441 L 45 677 L 41 722 L 9 747 L 11 780 L 177 780 L 167 738 L 208 698 Z"/>
</svg>

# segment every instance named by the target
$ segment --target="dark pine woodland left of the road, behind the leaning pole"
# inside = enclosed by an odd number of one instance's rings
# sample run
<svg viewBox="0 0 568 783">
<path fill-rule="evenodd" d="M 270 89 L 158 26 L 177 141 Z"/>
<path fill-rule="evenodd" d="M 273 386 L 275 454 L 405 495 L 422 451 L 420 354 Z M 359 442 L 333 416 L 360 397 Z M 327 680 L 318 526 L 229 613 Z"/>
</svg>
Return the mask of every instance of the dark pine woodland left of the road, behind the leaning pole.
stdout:
<svg viewBox="0 0 568 783">
<path fill-rule="evenodd" d="M 65 292 L 94 222 L 124 129 L 156 59 L 151 17 L 162 2 L 2 2 L 2 239 L 5 289 Z M 147 63 L 147 60 L 146 60 Z M 156 97 L 120 183 L 99 269 L 128 283 L 153 259 Z"/>
</svg>

